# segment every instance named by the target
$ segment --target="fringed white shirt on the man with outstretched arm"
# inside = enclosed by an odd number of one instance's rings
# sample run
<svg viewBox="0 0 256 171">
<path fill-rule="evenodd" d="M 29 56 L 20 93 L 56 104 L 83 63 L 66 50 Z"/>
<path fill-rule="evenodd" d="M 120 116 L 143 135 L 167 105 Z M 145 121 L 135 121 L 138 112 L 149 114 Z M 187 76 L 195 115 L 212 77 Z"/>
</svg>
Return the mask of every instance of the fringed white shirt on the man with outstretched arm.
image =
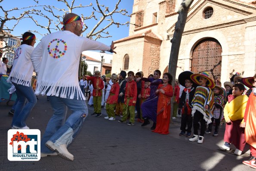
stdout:
<svg viewBox="0 0 256 171">
<path fill-rule="evenodd" d="M 70 31 L 58 31 L 43 37 L 31 55 L 38 73 L 35 94 L 73 99 L 77 92 L 77 100 L 85 100 L 77 76 L 80 54 L 86 50 L 109 51 L 110 46 Z"/>
</svg>

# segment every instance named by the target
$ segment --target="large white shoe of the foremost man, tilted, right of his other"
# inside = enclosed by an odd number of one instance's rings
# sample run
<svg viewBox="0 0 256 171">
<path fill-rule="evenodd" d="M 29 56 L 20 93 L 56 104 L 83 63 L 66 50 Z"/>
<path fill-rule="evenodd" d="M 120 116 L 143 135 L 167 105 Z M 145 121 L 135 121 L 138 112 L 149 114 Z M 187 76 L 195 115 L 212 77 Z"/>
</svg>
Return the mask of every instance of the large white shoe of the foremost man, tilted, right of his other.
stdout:
<svg viewBox="0 0 256 171">
<path fill-rule="evenodd" d="M 56 151 L 58 155 L 61 156 L 62 158 L 70 161 L 74 160 L 74 156 L 68 152 L 68 149 L 65 144 L 61 144 L 59 147 L 57 147 L 54 143 L 52 143 L 52 141 L 48 140 L 45 145 L 50 150 Z"/>
</svg>

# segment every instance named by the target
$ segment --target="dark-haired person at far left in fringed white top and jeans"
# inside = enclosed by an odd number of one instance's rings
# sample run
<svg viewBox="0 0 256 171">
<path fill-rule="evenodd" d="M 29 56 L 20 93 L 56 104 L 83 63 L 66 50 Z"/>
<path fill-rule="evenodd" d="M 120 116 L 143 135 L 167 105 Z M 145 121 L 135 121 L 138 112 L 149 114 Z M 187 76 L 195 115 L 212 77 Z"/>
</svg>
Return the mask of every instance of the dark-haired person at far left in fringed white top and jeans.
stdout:
<svg viewBox="0 0 256 171">
<path fill-rule="evenodd" d="M 15 86 L 17 95 L 11 124 L 12 129 L 29 129 L 25 121 L 37 103 L 37 98 L 31 87 L 31 78 L 34 71 L 31 53 L 34 50 L 35 43 L 36 37 L 33 33 L 25 32 L 22 35 L 21 46 L 15 51 L 12 71 L 7 79 L 7 82 Z M 28 99 L 28 103 L 25 104 L 26 99 Z"/>
</svg>

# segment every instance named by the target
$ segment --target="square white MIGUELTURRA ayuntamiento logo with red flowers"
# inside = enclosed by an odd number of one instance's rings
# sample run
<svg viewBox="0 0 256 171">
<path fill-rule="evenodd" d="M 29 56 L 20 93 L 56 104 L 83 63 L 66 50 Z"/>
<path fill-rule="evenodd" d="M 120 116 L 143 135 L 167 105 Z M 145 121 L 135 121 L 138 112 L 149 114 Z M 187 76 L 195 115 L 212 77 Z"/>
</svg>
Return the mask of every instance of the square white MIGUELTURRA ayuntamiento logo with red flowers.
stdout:
<svg viewBox="0 0 256 171">
<path fill-rule="evenodd" d="M 9 129 L 9 161 L 38 161 L 40 157 L 40 130 Z"/>
</svg>

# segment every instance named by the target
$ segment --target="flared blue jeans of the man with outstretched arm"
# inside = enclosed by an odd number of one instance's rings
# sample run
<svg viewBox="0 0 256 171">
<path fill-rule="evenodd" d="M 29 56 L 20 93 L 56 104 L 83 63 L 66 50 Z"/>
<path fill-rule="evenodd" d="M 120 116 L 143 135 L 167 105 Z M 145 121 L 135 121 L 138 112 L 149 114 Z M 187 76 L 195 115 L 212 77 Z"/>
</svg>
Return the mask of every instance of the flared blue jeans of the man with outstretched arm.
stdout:
<svg viewBox="0 0 256 171">
<path fill-rule="evenodd" d="M 75 92 L 75 96 L 76 94 Z M 52 141 L 57 147 L 61 144 L 65 144 L 68 147 L 88 115 L 85 100 L 77 100 L 77 97 L 68 99 L 56 96 L 49 96 L 49 100 L 54 113 L 46 126 L 41 140 L 42 153 L 52 153 L 45 146 L 48 140 Z M 66 120 L 67 107 L 72 111 L 72 114 Z"/>
</svg>

